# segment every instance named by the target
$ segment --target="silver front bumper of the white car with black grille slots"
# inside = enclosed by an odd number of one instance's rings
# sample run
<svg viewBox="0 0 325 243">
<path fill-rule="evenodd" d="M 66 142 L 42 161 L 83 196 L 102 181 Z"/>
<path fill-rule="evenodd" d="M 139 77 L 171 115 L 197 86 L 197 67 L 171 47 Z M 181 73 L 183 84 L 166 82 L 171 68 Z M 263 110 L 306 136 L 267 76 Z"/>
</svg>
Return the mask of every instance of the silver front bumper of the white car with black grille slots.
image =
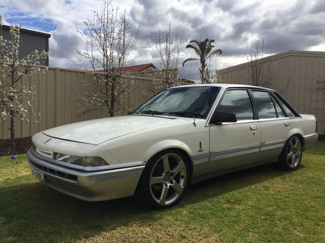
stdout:
<svg viewBox="0 0 325 243">
<path fill-rule="evenodd" d="M 44 173 L 45 185 L 85 201 L 105 201 L 132 196 L 146 161 L 114 165 L 102 171 L 81 171 L 49 162 L 31 147 L 27 161 Z"/>
</svg>

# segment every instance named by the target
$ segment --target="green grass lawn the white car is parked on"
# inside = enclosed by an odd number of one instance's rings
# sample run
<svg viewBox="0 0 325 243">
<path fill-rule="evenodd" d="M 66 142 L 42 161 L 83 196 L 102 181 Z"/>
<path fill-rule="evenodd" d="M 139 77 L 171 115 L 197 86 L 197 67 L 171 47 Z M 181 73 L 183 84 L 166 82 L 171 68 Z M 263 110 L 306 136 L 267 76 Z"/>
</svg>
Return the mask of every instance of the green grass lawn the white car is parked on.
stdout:
<svg viewBox="0 0 325 243">
<path fill-rule="evenodd" d="M 325 242 L 325 143 L 293 172 L 260 166 L 191 185 L 172 209 L 87 203 L 0 157 L 0 242 Z"/>
</svg>

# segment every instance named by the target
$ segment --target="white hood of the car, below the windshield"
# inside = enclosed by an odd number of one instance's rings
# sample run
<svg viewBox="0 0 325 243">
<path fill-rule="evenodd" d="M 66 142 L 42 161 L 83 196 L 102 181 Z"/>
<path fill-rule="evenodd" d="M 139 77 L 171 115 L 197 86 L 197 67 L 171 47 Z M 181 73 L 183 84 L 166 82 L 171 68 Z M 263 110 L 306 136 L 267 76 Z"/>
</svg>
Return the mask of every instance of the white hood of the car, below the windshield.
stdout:
<svg viewBox="0 0 325 243">
<path fill-rule="evenodd" d="M 151 115 L 128 115 L 71 123 L 45 130 L 50 137 L 98 145 L 116 137 L 169 124 L 189 122 L 188 119 Z"/>
</svg>

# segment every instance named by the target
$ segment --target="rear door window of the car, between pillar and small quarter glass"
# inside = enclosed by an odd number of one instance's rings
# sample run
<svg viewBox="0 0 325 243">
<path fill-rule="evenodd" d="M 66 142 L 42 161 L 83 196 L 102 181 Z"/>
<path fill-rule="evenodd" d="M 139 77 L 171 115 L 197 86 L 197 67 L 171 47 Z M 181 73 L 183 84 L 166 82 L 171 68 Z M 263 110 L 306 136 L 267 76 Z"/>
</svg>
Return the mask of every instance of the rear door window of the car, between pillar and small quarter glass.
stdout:
<svg viewBox="0 0 325 243">
<path fill-rule="evenodd" d="M 277 112 L 268 92 L 252 91 L 259 119 L 278 118 Z"/>
</svg>

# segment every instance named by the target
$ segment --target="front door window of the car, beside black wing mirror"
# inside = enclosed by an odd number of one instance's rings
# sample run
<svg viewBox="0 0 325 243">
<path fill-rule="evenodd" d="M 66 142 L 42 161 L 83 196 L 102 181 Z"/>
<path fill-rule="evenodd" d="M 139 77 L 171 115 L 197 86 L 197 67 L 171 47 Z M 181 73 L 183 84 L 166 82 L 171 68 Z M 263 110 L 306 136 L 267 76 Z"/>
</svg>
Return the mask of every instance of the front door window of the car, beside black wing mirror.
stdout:
<svg viewBox="0 0 325 243">
<path fill-rule="evenodd" d="M 218 111 L 235 113 L 238 121 L 254 119 L 252 102 L 246 90 L 228 90 Z"/>
</svg>

